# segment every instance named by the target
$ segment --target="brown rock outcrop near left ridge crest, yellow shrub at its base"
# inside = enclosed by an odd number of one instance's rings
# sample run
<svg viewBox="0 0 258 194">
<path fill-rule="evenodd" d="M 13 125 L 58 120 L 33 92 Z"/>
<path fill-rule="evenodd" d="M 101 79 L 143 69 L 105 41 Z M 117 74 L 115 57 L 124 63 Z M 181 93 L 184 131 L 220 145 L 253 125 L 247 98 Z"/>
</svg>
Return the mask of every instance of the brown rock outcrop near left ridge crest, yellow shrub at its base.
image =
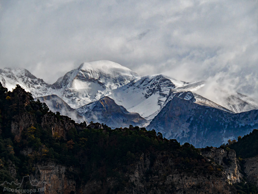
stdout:
<svg viewBox="0 0 258 194">
<path fill-rule="evenodd" d="M 63 137 L 65 140 L 67 138 L 67 132 L 71 128 L 75 128 L 74 124 L 71 123 L 71 119 L 66 116 L 61 116 L 62 120 L 55 118 L 54 115 L 44 115 L 42 118 L 42 129 L 51 129 L 52 135 L 58 135 Z"/>
</svg>

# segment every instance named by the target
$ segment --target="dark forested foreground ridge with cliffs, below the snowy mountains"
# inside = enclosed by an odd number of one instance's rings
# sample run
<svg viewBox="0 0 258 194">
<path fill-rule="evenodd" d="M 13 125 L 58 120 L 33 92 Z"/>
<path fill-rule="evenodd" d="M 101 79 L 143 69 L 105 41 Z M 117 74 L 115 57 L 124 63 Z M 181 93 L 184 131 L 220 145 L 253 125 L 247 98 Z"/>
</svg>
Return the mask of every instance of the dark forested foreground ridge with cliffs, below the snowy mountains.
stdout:
<svg viewBox="0 0 258 194">
<path fill-rule="evenodd" d="M 138 126 L 78 124 L 19 85 L 10 92 L 0 84 L 0 110 L 1 193 L 28 175 L 21 189 L 51 194 L 258 192 L 250 181 L 258 160 L 236 159 L 235 141 L 197 149 Z"/>
</svg>

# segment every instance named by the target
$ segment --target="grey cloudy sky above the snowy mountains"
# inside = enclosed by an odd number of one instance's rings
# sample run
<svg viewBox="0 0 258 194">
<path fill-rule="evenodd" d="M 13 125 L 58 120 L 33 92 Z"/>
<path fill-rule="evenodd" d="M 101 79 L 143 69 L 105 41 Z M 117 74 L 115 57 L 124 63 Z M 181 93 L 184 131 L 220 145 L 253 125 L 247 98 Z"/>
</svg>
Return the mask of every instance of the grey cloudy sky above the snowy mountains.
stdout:
<svg viewBox="0 0 258 194">
<path fill-rule="evenodd" d="M 0 65 L 54 83 L 82 62 L 258 96 L 258 1 L 0 0 Z"/>
</svg>

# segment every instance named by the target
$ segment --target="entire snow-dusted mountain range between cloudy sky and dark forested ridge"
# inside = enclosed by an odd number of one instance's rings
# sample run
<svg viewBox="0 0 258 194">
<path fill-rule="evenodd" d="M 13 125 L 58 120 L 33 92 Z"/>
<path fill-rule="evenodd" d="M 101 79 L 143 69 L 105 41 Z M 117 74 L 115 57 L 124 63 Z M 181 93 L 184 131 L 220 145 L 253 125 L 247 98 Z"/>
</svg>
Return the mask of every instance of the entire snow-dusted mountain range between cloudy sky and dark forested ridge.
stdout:
<svg viewBox="0 0 258 194">
<path fill-rule="evenodd" d="M 52 111 L 112 128 L 147 126 L 197 147 L 218 146 L 258 126 L 258 100 L 225 93 L 220 103 L 198 95 L 205 81 L 187 83 L 161 74 L 140 77 L 111 61 L 83 63 L 49 85 L 26 69 L 0 69 L 9 90 L 19 84 Z M 238 113 L 241 112 L 241 113 Z M 82 118 L 82 120 L 80 120 Z M 147 120 L 146 120 L 147 119 Z M 210 143 L 210 144 L 209 144 Z"/>
</svg>

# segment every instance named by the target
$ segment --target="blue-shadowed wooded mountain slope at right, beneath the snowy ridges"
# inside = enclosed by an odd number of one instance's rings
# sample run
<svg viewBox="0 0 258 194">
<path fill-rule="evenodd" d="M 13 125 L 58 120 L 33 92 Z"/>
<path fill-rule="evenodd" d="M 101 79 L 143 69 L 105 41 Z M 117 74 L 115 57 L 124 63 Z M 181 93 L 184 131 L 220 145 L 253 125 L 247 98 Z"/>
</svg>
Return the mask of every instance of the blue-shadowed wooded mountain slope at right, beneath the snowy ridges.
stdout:
<svg viewBox="0 0 258 194">
<path fill-rule="evenodd" d="M 196 147 L 220 146 L 258 127 L 258 110 L 230 113 L 174 97 L 147 126 Z"/>
</svg>

